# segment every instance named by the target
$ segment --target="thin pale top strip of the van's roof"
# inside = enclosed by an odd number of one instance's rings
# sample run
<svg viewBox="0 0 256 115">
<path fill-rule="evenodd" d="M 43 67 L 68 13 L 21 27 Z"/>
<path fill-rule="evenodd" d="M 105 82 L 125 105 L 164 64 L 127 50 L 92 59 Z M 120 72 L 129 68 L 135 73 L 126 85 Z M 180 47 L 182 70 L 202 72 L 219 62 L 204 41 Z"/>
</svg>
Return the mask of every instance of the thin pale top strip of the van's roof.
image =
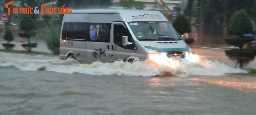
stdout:
<svg viewBox="0 0 256 115">
<path fill-rule="evenodd" d="M 116 9 L 88 9 L 88 10 L 73 10 L 72 13 L 128 13 L 128 12 L 144 12 L 148 10 L 116 10 Z M 158 11 L 160 12 L 160 11 Z"/>
</svg>

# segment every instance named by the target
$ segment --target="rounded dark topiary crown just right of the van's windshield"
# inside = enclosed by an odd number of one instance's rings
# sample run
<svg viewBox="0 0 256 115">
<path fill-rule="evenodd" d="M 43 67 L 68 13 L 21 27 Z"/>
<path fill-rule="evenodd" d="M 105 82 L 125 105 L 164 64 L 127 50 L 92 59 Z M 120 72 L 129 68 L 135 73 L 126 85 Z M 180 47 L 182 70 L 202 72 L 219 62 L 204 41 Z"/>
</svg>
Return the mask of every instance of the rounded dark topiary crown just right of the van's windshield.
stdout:
<svg viewBox="0 0 256 115">
<path fill-rule="evenodd" d="M 174 20 L 173 27 L 180 35 L 191 32 L 190 23 L 184 15 L 180 15 Z"/>
</svg>

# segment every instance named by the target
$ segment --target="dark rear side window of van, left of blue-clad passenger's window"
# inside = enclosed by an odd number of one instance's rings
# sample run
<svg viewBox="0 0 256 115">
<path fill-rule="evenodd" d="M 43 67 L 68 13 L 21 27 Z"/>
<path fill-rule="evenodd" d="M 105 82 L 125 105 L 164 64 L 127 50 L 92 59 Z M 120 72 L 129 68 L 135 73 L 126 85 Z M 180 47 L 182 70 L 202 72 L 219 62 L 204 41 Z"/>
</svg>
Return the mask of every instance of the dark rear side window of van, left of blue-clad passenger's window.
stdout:
<svg viewBox="0 0 256 115">
<path fill-rule="evenodd" d="M 88 23 L 86 22 L 68 22 L 67 39 L 81 40 L 88 39 Z"/>
</svg>

